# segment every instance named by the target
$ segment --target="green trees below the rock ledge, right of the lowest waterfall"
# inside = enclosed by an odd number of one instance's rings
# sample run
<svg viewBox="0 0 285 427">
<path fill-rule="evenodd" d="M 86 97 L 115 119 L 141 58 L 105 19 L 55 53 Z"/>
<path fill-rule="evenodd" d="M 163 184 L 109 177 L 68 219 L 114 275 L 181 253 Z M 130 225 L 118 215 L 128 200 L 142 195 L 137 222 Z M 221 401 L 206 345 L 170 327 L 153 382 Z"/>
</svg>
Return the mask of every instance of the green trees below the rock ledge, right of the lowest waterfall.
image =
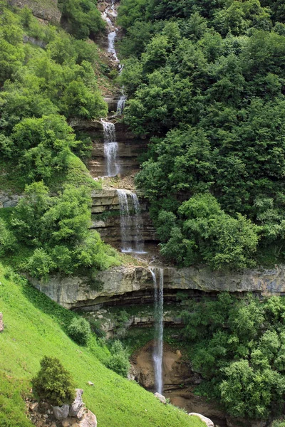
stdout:
<svg viewBox="0 0 285 427">
<path fill-rule="evenodd" d="M 285 397 L 284 313 L 281 297 L 263 302 L 220 294 L 188 300 L 183 313 L 193 366 L 204 382 L 199 393 L 215 397 L 234 417 L 268 418 Z"/>
</svg>

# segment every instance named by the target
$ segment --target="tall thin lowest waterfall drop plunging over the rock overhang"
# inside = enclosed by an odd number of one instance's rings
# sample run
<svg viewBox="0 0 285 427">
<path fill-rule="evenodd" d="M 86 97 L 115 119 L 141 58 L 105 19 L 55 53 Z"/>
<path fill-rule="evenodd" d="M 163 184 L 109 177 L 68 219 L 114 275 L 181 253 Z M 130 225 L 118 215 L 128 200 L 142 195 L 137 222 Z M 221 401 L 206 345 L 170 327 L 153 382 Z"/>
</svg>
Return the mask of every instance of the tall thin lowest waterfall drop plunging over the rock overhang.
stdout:
<svg viewBox="0 0 285 427">
<path fill-rule="evenodd" d="M 160 280 L 157 285 L 155 270 L 159 271 Z M 163 268 L 150 268 L 155 289 L 155 347 L 153 364 L 155 371 L 155 389 L 162 394 L 162 356 L 163 356 Z"/>
</svg>

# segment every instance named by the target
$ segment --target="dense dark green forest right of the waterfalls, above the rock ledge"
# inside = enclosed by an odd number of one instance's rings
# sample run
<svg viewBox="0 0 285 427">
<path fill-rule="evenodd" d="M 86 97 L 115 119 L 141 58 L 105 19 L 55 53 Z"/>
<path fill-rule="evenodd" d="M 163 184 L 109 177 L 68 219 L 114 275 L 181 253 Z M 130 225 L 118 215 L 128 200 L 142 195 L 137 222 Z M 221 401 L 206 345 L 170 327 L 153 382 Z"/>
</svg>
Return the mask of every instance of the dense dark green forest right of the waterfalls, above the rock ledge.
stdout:
<svg viewBox="0 0 285 427">
<path fill-rule="evenodd" d="M 214 269 L 284 259 L 284 3 L 122 0 L 119 23 L 162 254 Z"/>
</svg>

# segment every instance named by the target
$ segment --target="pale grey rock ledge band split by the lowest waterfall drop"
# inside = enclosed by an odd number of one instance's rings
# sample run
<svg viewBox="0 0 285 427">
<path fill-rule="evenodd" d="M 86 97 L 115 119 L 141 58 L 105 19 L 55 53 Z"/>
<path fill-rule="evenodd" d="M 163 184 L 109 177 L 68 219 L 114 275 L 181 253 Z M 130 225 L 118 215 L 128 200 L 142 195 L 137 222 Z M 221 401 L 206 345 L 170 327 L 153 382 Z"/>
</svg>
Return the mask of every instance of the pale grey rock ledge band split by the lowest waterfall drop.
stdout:
<svg viewBox="0 0 285 427">
<path fill-rule="evenodd" d="M 152 300 L 149 268 L 121 266 L 98 273 L 95 280 L 79 277 L 52 277 L 48 282 L 31 283 L 52 300 L 69 309 L 93 310 L 102 305 L 128 305 Z M 216 295 L 217 292 L 254 292 L 285 295 L 285 265 L 246 269 L 239 272 L 213 271 L 205 266 L 164 268 L 165 299 L 176 300 L 176 292 Z"/>
</svg>

